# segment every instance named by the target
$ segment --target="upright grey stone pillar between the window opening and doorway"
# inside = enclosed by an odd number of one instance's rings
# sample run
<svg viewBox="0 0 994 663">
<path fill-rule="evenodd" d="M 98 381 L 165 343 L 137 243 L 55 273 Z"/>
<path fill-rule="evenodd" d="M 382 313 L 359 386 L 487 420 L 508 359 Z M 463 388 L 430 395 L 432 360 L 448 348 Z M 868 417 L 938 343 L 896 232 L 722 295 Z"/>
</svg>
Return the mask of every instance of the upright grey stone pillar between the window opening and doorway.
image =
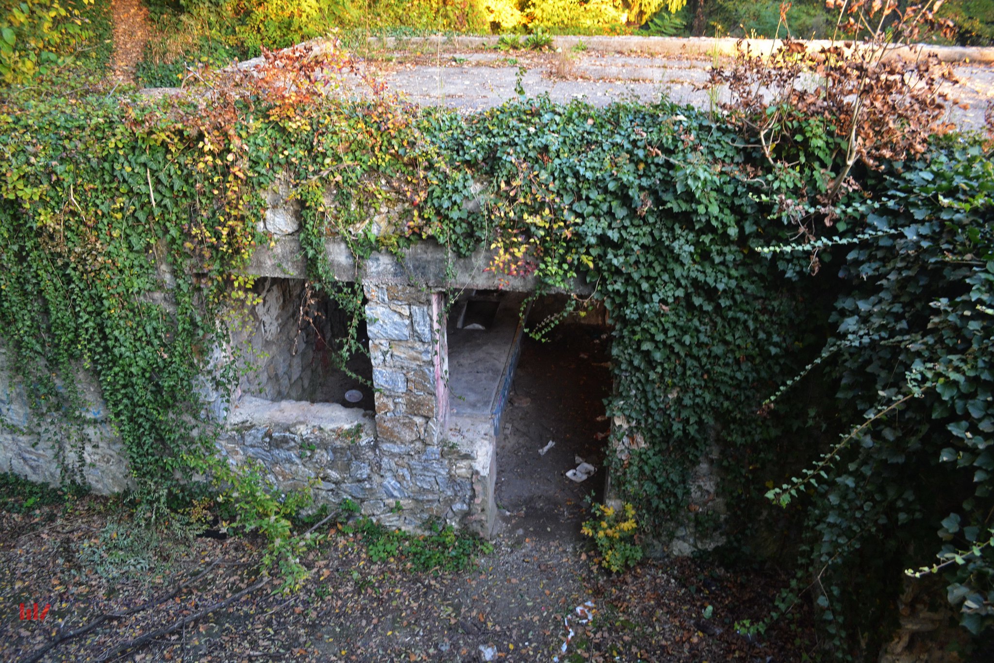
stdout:
<svg viewBox="0 0 994 663">
<path fill-rule="evenodd" d="M 448 414 L 443 295 L 409 285 L 364 285 L 381 443 L 434 445 Z"/>
</svg>

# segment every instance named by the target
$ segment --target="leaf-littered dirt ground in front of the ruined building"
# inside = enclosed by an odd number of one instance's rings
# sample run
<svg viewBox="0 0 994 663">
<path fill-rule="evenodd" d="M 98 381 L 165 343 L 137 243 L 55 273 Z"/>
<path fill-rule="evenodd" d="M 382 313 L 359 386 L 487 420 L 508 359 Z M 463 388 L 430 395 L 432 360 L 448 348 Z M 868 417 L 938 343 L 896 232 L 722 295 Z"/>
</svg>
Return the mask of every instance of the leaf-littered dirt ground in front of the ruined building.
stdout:
<svg viewBox="0 0 994 663">
<path fill-rule="evenodd" d="M 147 566 L 118 559 L 117 567 L 136 568 L 110 580 L 101 575 L 113 554 L 107 533 L 135 532 L 118 506 L 85 498 L 69 510 L 0 514 L 0 660 L 30 660 L 99 615 L 163 595 L 168 599 L 107 618 L 40 660 L 772 663 L 800 660 L 807 641 L 803 608 L 799 621 L 774 625 L 758 643 L 734 631 L 736 620 L 763 614 L 779 586 L 780 579 L 755 569 L 684 559 L 611 576 L 580 544 L 505 537 L 472 571 L 417 573 L 404 560 L 373 563 L 355 534 L 328 531 L 329 540 L 303 560 L 311 578 L 299 593 L 274 594 L 271 582 L 185 628 L 108 656 L 114 646 L 252 583 L 259 542 L 164 543 Z M 564 619 L 585 601 L 592 620 L 572 616 L 568 626 Z M 51 605 L 46 619 L 21 620 L 20 603 L 30 613 L 34 602 Z"/>
</svg>

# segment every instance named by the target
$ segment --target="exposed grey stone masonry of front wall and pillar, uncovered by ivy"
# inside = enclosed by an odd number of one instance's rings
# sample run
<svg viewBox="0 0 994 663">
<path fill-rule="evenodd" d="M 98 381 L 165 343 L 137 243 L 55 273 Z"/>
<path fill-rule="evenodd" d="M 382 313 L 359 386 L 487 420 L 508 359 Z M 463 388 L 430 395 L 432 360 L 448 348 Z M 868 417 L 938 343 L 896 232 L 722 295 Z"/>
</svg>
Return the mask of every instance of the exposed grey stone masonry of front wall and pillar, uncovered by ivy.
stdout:
<svg viewBox="0 0 994 663">
<path fill-rule="evenodd" d="M 450 434 L 447 430 L 444 297 L 437 291 L 440 287 L 432 291 L 407 284 L 412 278 L 433 282 L 431 274 L 447 271 L 441 268 L 447 261 L 428 247 L 424 255 L 414 249 L 411 256 L 414 267 L 428 276 L 411 273 L 395 257 L 379 254 L 362 270 L 343 271 L 363 280 L 368 299 L 376 413 L 310 403 L 328 371 L 316 356 L 320 348 L 315 338 L 300 324 L 300 306 L 306 297 L 295 244 L 299 214 L 287 193 L 283 183 L 269 192 L 269 209 L 259 229 L 277 242 L 277 249 L 284 245 L 291 249 L 286 255 L 260 249 L 262 268 L 248 267 L 249 273 L 259 276 L 260 301 L 248 310 L 244 327 L 215 349 L 207 371 L 217 371 L 240 356 L 246 362 L 243 366 L 254 368 L 234 394 L 216 393 L 206 379 L 194 385 L 208 404 L 206 415 L 223 422 L 221 452 L 233 463 L 259 461 L 277 489 L 313 485 L 319 503 L 353 499 L 364 513 L 387 524 L 414 529 L 433 516 L 485 530 L 478 524 L 485 520 L 481 511 L 486 507 L 480 496 L 485 492 L 481 486 L 492 475 L 492 443 L 475 431 Z M 387 223 L 388 213 L 381 210 L 377 219 Z M 338 249 L 332 243 L 329 255 L 334 264 L 344 264 L 335 257 Z M 480 276 L 484 257 L 467 258 L 465 264 L 459 263 L 460 269 L 489 283 L 492 278 Z M 284 263 L 290 264 L 289 273 Z M 168 308 L 166 276 L 166 289 L 151 293 L 148 300 Z M 324 333 L 326 338 L 335 337 L 332 329 Z M 122 445 L 105 419 L 99 390 L 91 382 L 81 380 L 81 384 L 92 406 L 86 414 L 92 424 L 83 431 L 90 438 L 85 445 L 86 478 L 97 492 L 120 491 L 128 486 Z M 42 426 L 32 421 L 24 390 L 10 379 L 2 361 L 0 418 L 2 469 L 38 481 L 58 481 L 57 456 L 62 447 L 34 443 Z"/>
</svg>

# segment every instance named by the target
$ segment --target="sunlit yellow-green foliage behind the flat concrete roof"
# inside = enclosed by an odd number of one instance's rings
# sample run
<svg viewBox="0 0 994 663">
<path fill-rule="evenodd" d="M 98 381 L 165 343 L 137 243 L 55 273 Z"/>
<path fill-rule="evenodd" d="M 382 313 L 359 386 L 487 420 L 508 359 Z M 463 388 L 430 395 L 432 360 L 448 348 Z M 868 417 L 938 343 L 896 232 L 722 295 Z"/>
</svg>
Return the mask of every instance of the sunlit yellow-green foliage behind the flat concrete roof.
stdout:
<svg viewBox="0 0 994 663">
<path fill-rule="evenodd" d="M 423 34 L 610 35 L 708 37 L 837 36 L 838 12 L 823 0 L 791 3 L 786 24 L 777 0 L 147 0 L 158 26 L 139 66 L 145 85 L 175 85 L 187 67 L 227 65 L 260 49 L 285 48 L 334 34 L 346 46 L 370 36 Z M 831 3 L 829 3 L 831 5 Z M 851 5 L 850 5 L 851 6 Z M 994 6 L 948 0 L 938 10 L 955 34 L 938 43 L 994 43 Z M 930 38 L 931 39 L 931 38 Z"/>
</svg>

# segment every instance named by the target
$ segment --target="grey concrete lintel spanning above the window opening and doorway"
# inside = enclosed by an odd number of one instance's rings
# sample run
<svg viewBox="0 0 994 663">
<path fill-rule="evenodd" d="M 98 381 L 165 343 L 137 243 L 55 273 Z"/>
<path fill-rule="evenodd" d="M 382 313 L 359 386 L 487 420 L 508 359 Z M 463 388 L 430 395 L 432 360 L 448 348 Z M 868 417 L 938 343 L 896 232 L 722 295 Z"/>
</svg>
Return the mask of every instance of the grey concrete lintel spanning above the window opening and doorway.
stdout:
<svg viewBox="0 0 994 663">
<path fill-rule="evenodd" d="M 491 249 L 476 249 L 466 257 L 458 257 L 434 240 L 427 240 L 403 250 L 401 257 L 378 251 L 358 264 L 342 240 L 329 240 L 325 244 L 325 250 L 331 270 L 340 281 L 416 283 L 439 290 L 446 287 L 468 287 L 512 292 L 530 292 L 538 285 L 534 276 L 508 276 L 484 271 L 491 263 Z M 277 240 L 272 249 L 255 249 L 246 272 L 255 276 L 306 278 L 307 261 L 300 249 L 299 239 L 284 237 Z M 569 289 L 569 292 L 577 294 L 589 294 L 592 291 L 593 288 L 582 279 L 576 279 L 574 286 Z"/>
</svg>

